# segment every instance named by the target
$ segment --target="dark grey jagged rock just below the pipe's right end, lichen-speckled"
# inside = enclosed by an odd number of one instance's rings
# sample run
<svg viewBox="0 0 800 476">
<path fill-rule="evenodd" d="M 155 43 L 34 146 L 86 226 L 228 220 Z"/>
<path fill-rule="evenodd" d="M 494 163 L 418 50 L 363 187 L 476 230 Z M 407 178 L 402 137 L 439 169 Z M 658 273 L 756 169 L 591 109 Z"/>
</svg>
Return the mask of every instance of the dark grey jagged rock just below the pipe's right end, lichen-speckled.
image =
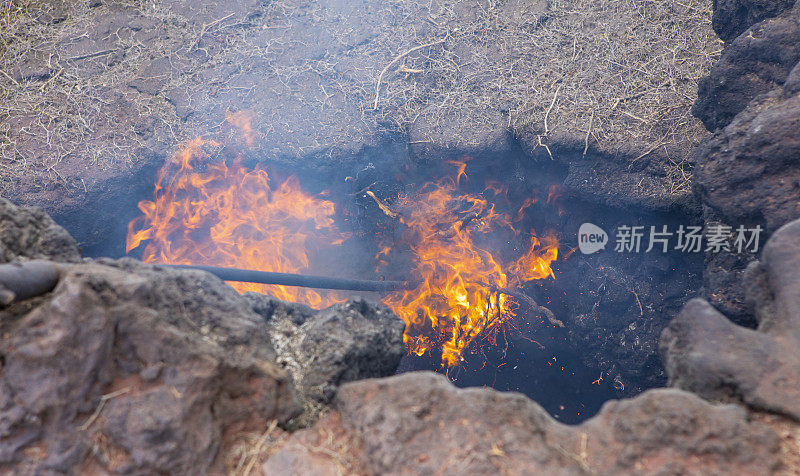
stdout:
<svg viewBox="0 0 800 476">
<path fill-rule="evenodd" d="M 392 375 L 406 353 L 403 321 L 384 306 L 357 299 L 313 313 L 260 294 L 246 298 L 267 320 L 278 362 L 301 393 L 305 413 L 298 426 L 315 421 L 339 385 Z"/>
</svg>

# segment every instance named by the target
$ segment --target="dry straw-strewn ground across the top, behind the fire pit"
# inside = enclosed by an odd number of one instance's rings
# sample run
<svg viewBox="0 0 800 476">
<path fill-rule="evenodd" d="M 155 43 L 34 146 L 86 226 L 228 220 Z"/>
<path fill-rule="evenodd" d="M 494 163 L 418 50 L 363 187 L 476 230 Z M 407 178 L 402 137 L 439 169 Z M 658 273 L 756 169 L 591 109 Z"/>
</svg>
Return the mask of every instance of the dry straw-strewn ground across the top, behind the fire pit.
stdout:
<svg viewBox="0 0 800 476">
<path fill-rule="evenodd" d="M 668 156 L 671 189 L 685 190 L 684 161 L 703 134 L 689 110 L 721 47 L 711 1 L 550 0 L 546 11 L 535 3 L 393 0 L 348 23 L 324 6 L 279 0 L 257 15 L 193 23 L 167 0 L 66 2 L 69 15 L 51 24 L 51 3 L 7 1 L 2 189 L 85 192 L 84 177 L 126 170 L 139 148 L 169 155 L 189 136 L 219 132 L 220 109 L 255 105 L 261 136 L 282 155 L 346 154 L 376 132 L 470 148 L 508 129 L 548 153 L 569 136 L 587 151 L 631 146 L 633 161 Z M 156 38 L 92 30 L 120 6 L 154 21 Z M 316 40 L 297 32 L 314 30 L 329 33 L 325 53 L 302 57 L 296 51 Z M 127 86 L 165 56 L 176 66 L 163 90 L 185 91 L 206 117 L 181 122 L 163 94 Z M 265 91 L 277 102 L 264 102 Z"/>
</svg>

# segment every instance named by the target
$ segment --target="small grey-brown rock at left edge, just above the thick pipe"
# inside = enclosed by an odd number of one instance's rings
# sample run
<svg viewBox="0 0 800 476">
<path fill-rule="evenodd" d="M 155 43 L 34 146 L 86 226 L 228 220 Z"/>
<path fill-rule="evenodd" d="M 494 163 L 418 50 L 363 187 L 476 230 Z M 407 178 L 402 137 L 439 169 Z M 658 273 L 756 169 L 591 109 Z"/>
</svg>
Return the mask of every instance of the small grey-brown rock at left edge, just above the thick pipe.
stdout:
<svg viewBox="0 0 800 476">
<path fill-rule="evenodd" d="M 0 263 L 18 259 L 80 261 L 78 245 L 41 208 L 0 198 Z"/>
</svg>

